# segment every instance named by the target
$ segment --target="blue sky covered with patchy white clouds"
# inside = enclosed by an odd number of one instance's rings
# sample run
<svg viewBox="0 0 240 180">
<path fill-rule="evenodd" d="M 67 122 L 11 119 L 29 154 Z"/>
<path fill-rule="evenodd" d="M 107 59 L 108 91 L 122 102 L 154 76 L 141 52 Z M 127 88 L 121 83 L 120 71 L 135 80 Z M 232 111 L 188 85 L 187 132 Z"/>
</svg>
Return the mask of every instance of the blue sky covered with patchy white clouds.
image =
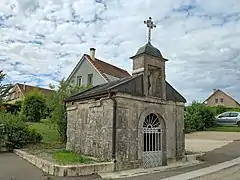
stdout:
<svg viewBox="0 0 240 180">
<path fill-rule="evenodd" d="M 213 88 L 240 100 L 239 0 L 1 0 L 0 69 L 7 82 L 47 87 L 95 47 L 131 72 L 149 16 L 152 44 L 169 59 L 167 80 L 188 101 Z"/>
</svg>

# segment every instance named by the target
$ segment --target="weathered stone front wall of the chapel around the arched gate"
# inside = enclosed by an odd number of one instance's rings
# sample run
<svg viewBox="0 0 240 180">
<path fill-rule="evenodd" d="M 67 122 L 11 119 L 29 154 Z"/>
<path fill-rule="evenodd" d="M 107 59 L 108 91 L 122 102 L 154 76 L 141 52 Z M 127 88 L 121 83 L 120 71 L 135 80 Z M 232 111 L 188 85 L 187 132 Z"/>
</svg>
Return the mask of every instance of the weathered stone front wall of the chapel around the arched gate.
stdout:
<svg viewBox="0 0 240 180">
<path fill-rule="evenodd" d="M 117 97 L 117 164 L 118 169 L 141 166 L 138 147 L 138 125 L 141 113 L 148 108 L 159 109 L 158 114 L 166 123 L 166 153 L 168 162 L 184 155 L 182 105 L 163 102 L 156 98 L 136 98 L 131 95 Z"/>
</svg>

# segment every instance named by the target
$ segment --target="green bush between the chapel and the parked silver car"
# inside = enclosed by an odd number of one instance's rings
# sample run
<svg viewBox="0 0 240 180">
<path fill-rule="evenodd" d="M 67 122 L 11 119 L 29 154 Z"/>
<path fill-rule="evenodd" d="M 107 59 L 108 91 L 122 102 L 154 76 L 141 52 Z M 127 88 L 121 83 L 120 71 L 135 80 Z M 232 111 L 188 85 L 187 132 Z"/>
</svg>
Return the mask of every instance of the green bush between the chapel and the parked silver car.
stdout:
<svg viewBox="0 0 240 180">
<path fill-rule="evenodd" d="M 205 105 L 193 102 L 184 114 L 185 132 L 205 131 L 216 126 L 214 113 Z"/>
</svg>

